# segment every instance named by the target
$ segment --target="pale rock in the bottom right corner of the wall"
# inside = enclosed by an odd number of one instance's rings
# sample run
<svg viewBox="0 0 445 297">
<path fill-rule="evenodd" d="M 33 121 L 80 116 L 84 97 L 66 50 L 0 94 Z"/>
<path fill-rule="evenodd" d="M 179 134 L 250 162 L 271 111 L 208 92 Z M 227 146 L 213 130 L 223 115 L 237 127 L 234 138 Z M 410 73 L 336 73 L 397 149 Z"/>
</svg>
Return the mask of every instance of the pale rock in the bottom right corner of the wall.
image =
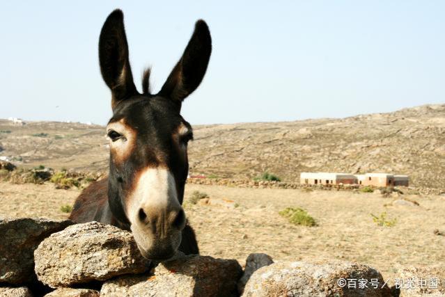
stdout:
<svg viewBox="0 0 445 297">
<path fill-rule="evenodd" d="M 445 268 L 405 266 L 398 268 L 396 287 L 400 296 L 445 296 Z"/>
</svg>

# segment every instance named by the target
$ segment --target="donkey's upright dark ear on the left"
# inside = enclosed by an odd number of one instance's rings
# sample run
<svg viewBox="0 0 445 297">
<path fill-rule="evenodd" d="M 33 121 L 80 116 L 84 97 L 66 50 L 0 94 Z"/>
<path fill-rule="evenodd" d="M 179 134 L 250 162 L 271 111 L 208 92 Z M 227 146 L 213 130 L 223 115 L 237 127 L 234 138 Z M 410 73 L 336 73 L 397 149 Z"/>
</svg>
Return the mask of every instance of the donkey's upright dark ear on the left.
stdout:
<svg viewBox="0 0 445 297">
<path fill-rule="evenodd" d="M 120 100 L 137 94 L 128 59 L 128 44 L 121 10 L 114 10 L 102 26 L 99 38 L 99 62 L 102 78 L 111 89 L 113 109 Z"/>
</svg>

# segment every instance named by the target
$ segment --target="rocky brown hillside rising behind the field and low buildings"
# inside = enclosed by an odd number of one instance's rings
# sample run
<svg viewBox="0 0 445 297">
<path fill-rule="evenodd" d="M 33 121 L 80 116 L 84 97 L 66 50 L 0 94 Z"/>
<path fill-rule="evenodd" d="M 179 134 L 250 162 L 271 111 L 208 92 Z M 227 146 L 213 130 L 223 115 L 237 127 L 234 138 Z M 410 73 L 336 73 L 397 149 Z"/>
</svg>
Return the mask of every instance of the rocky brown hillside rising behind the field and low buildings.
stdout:
<svg viewBox="0 0 445 297">
<path fill-rule="evenodd" d="M 107 168 L 104 127 L 0 120 L 0 131 L 0 156 L 15 163 Z M 414 186 L 445 188 L 445 104 L 343 119 L 200 125 L 194 135 L 193 175 L 251 179 L 268 171 L 295 182 L 303 171 L 392 172 L 409 175 Z"/>
</svg>

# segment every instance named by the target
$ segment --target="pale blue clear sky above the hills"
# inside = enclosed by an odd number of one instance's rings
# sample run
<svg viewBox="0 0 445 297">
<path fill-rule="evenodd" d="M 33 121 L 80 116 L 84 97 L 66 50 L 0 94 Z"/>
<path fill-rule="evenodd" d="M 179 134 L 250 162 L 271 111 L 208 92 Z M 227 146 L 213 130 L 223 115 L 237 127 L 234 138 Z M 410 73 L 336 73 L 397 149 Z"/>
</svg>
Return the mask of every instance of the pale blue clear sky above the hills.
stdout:
<svg viewBox="0 0 445 297">
<path fill-rule="evenodd" d="M 97 43 L 123 10 L 136 87 L 159 91 L 197 19 L 212 35 L 192 123 L 343 118 L 445 102 L 445 1 L 3 1 L 0 118 L 111 117 Z"/>
</svg>

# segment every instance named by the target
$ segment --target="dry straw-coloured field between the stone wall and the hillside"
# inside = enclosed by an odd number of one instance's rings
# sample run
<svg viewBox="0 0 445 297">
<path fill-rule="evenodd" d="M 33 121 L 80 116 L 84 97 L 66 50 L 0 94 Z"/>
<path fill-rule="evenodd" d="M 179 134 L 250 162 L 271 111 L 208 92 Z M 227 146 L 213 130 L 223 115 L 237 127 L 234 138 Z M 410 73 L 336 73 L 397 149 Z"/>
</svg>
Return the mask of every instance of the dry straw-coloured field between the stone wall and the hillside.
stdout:
<svg viewBox="0 0 445 297">
<path fill-rule="evenodd" d="M 392 206 L 396 198 L 352 191 L 302 191 L 232 188 L 187 184 L 223 205 L 186 203 L 202 255 L 233 258 L 244 264 L 251 252 L 274 260 L 343 259 L 377 268 L 384 278 L 395 277 L 398 266 L 445 265 L 445 196 L 402 195 L 419 206 Z M 61 206 L 73 204 L 78 189 L 57 190 L 54 184 L 0 182 L 0 217 L 67 218 Z M 399 198 L 400 199 L 400 198 Z M 233 207 L 235 203 L 236 207 Z M 297 226 L 279 216 L 285 207 L 302 207 L 318 223 Z M 393 227 L 380 227 L 372 216 L 387 212 Z"/>
</svg>

